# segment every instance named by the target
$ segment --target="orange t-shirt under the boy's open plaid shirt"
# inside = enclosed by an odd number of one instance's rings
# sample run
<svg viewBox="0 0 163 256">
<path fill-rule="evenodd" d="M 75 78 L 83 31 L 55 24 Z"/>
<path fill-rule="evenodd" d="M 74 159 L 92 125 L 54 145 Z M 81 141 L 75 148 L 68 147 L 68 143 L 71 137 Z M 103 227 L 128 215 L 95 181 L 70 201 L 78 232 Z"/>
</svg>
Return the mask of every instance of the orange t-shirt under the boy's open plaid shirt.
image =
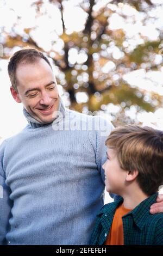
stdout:
<svg viewBox="0 0 163 256">
<path fill-rule="evenodd" d="M 110 233 L 106 237 L 104 245 L 124 245 L 122 216 L 130 211 L 130 209 L 124 208 L 123 204 L 116 209 Z"/>
</svg>

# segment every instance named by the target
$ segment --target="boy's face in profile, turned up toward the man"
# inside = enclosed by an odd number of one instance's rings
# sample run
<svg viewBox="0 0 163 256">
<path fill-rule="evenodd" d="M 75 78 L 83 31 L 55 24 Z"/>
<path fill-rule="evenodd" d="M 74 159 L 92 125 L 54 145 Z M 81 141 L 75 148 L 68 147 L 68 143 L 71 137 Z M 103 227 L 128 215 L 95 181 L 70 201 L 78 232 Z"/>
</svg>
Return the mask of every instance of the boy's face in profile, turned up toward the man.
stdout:
<svg viewBox="0 0 163 256">
<path fill-rule="evenodd" d="M 107 160 L 103 164 L 105 170 L 106 191 L 110 193 L 120 194 L 126 184 L 126 170 L 121 169 L 118 163 L 117 154 L 114 149 L 108 149 Z"/>
</svg>

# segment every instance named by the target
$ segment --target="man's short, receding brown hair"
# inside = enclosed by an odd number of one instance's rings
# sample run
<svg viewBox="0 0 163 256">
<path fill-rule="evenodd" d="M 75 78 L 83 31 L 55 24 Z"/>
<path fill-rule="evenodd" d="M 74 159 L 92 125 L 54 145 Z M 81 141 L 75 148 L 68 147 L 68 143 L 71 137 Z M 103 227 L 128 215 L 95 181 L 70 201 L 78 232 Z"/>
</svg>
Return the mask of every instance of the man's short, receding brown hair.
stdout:
<svg viewBox="0 0 163 256">
<path fill-rule="evenodd" d="M 16 91 L 17 91 L 16 69 L 18 64 L 35 63 L 41 58 L 44 59 L 48 63 L 48 65 L 52 68 L 46 56 L 42 52 L 37 51 L 34 48 L 26 48 L 26 49 L 17 51 L 13 54 L 8 64 L 8 74 L 10 77 L 11 85 Z"/>
</svg>

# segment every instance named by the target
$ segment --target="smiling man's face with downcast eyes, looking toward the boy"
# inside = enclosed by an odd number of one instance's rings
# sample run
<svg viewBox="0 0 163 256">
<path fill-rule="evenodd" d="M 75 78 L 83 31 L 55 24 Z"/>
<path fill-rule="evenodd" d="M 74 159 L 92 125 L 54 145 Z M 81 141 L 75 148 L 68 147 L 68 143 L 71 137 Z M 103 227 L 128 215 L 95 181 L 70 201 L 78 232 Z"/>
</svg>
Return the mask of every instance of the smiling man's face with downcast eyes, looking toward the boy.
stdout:
<svg viewBox="0 0 163 256">
<path fill-rule="evenodd" d="M 20 64 L 16 69 L 17 92 L 11 87 L 15 101 L 23 103 L 27 112 L 41 123 L 51 123 L 58 111 L 59 93 L 53 71 L 44 59 L 33 64 Z"/>
</svg>

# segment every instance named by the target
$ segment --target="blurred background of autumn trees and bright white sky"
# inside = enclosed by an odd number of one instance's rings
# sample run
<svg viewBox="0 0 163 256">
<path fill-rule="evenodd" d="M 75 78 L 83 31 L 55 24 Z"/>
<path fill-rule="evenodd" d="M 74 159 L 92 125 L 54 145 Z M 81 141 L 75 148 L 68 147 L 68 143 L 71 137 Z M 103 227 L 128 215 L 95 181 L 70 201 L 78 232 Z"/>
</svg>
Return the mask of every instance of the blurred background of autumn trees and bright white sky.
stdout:
<svg viewBox="0 0 163 256">
<path fill-rule="evenodd" d="M 163 0 L 1 0 L 0 137 L 26 125 L 7 74 L 23 47 L 49 58 L 66 107 L 162 130 L 162 12 Z"/>
</svg>

